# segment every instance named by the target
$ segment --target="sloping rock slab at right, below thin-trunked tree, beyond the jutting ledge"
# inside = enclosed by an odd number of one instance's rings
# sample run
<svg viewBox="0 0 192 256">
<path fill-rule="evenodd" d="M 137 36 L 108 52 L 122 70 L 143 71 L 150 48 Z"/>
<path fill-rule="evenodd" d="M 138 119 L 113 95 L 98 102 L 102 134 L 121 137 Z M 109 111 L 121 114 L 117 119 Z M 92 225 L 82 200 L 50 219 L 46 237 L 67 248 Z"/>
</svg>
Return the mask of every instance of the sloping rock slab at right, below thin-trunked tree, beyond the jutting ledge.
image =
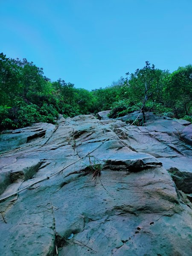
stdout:
<svg viewBox="0 0 192 256">
<path fill-rule="evenodd" d="M 183 122 L 185 120 L 157 118 L 151 113 L 146 113 L 146 116 L 145 126 L 116 127 L 113 130 L 122 132 L 119 137 L 132 150 L 153 155 L 167 171 L 177 169 L 177 174 L 172 172 L 176 186 L 191 193 L 192 124 Z"/>
</svg>

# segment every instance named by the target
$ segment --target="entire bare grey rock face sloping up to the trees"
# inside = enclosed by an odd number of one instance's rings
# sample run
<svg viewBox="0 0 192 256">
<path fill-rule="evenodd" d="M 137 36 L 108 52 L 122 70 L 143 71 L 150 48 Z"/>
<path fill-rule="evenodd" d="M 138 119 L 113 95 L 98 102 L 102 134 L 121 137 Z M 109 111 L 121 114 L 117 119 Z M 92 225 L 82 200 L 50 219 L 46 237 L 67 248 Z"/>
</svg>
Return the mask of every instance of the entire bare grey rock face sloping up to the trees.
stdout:
<svg viewBox="0 0 192 256">
<path fill-rule="evenodd" d="M 0 198 L 28 186 L 0 201 L 2 255 L 191 255 L 192 125 L 146 116 L 1 134 Z"/>
</svg>

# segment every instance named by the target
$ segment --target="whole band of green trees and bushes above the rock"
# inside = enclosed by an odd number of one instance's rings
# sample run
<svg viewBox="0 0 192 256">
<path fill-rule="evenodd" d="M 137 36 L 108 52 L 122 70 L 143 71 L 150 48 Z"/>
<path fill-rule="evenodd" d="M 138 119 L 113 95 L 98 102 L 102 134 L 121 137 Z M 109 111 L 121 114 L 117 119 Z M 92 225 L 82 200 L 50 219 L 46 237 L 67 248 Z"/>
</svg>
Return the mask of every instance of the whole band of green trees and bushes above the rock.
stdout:
<svg viewBox="0 0 192 256">
<path fill-rule="evenodd" d="M 54 123 L 59 113 L 73 117 L 108 109 L 113 118 L 140 110 L 143 122 L 145 111 L 192 121 L 192 65 L 169 73 L 146 61 L 111 86 L 88 91 L 61 79 L 52 82 L 33 62 L 0 53 L 1 129 Z"/>
</svg>

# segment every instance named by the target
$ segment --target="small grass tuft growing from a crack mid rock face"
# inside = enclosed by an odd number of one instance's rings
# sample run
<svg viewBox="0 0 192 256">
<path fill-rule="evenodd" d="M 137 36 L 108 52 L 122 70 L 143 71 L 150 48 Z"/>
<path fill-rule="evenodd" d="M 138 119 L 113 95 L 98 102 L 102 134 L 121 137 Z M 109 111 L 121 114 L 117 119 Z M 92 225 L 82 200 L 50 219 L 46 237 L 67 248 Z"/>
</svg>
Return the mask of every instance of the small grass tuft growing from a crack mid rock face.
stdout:
<svg viewBox="0 0 192 256">
<path fill-rule="evenodd" d="M 89 157 L 89 165 L 85 163 L 84 165 L 87 166 L 87 171 L 92 174 L 92 177 L 90 178 L 90 180 L 95 180 L 101 175 L 103 165 L 95 157 L 90 156 L 90 154 L 88 154 L 88 157 Z M 91 157 L 93 157 L 93 160 L 91 160 Z"/>
</svg>

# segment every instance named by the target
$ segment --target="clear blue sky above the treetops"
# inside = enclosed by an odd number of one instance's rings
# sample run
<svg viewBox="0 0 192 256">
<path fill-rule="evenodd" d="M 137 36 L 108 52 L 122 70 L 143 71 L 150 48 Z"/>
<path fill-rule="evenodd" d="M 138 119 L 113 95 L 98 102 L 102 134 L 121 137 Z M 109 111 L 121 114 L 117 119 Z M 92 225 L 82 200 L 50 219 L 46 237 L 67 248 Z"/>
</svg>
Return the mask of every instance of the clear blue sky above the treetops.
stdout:
<svg viewBox="0 0 192 256">
<path fill-rule="evenodd" d="M 88 90 L 192 64 L 192 0 L 1 0 L 0 52 Z"/>
</svg>

